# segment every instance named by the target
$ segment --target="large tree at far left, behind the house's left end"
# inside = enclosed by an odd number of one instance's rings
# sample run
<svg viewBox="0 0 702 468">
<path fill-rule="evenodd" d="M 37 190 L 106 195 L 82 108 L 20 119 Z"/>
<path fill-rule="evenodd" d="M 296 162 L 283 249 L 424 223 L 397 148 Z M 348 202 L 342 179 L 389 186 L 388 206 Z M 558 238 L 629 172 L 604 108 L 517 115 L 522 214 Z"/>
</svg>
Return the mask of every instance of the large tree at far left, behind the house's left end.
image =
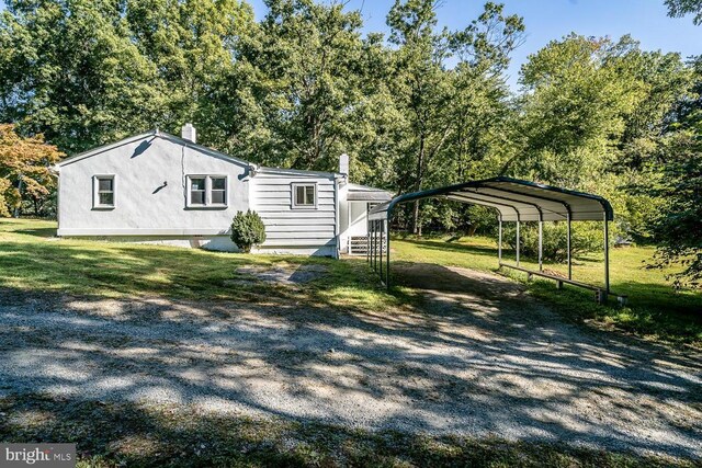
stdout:
<svg viewBox="0 0 702 468">
<path fill-rule="evenodd" d="M 0 16 L 0 119 L 79 151 L 147 127 L 156 68 L 116 0 L 11 0 Z"/>
</svg>

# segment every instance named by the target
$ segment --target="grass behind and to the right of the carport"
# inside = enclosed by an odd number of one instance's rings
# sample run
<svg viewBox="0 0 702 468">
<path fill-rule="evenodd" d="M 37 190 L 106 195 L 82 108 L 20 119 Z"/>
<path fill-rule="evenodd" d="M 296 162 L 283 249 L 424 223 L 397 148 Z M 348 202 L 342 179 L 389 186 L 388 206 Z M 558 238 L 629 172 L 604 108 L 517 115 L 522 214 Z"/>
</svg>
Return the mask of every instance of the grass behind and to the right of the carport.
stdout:
<svg viewBox="0 0 702 468">
<path fill-rule="evenodd" d="M 448 241 L 434 239 L 397 239 L 393 242 L 394 260 L 438 263 L 482 271 L 497 270 L 497 246 L 484 237 Z M 618 328 L 637 335 L 680 345 L 702 346 L 702 290 L 675 292 L 666 279 L 670 271 L 646 269 L 654 248 L 629 247 L 612 249 L 610 253 L 610 284 L 613 295 L 626 295 L 629 304 L 619 307 L 614 300 L 607 306 L 597 305 L 593 293 L 566 286 L 557 290 L 553 281 L 536 278 L 529 283 L 533 296 L 548 303 L 554 309 L 574 321 L 590 321 L 599 326 Z M 511 252 L 505 261 L 513 263 Z M 521 259 L 521 265 L 537 270 L 533 260 Z M 545 263 L 544 269 L 566 274 L 564 264 Z M 525 281 L 525 274 L 505 271 Z M 603 284 L 602 258 L 590 255 L 574 261 L 574 279 Z"/>
</svg>

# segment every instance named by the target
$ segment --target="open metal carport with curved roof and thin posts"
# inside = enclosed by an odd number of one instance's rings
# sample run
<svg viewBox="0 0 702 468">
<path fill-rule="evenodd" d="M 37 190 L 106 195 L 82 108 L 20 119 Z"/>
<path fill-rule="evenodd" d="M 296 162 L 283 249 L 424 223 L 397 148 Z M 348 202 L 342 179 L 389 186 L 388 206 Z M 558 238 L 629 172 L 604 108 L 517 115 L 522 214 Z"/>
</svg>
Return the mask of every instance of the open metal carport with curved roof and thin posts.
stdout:
<svg viewBox="0 0 702 468">
<path fill-rule="evenodd" d="M 390 286 L 390 248 L 389 221 L 393 209 L 400 203 L 422 198 L 444 198 L 455 202 L 482 205 L 494 208 L 498 213 L 498 260 L 500 266 L 523 271 L 529 275 L 550 277 L 558 282 L 587 287 L 598 293 L 598 300 L 607 300 L 610 293 L 609 274 L 609 221 L 614 212 L 610 203 L 598 195 L 576 192 L 566 189 L 522 181 L 511 178 L 492 178 L 482 181 L 465 182 L 439 189 L 399 195 L 392 201 L 378 205 L 369 213 L 369 249 L 367 260 L 380 274 L 381 281 Z M 502 263 L 502 222 L 517 224 L 516 265 Z M 539 221 L 539 271 L 520 266 L 520 222 Z M 566 250 L 568 277 L 561 278 L 543 273 L 543 222 L 565 221 L 567 224 Z M 601 287 L 573 281 L 573 259 L 570 249 L 570 229 L 573 221 L 602 221 L 604 246 L 604 289 Z"/>
</svg>

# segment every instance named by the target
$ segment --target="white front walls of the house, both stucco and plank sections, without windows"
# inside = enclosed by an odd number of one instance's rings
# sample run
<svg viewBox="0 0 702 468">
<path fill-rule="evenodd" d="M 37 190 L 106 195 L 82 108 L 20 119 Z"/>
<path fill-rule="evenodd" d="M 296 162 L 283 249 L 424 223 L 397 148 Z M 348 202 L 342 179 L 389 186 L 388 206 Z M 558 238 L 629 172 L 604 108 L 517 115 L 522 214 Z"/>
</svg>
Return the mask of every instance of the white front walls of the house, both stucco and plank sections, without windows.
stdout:
<svg viewBox="0 0 702 468">
<path fill-rule="evenodd" d="M 239 210 L 267 226 L 259 252 L 337 256 L 335 174 L 260 168 L 163 134 L 127 138 L 59 164 L 59 236 L 90 236 L 236 250 Z M 114 207 L 93 206 L 93 178 L 114 175 Z M 186 175 L 226 175 L 227 206 L 189 207 Z M 293 208 L 295 183 L 317 186 L 314 208 Z"/>
</svg>

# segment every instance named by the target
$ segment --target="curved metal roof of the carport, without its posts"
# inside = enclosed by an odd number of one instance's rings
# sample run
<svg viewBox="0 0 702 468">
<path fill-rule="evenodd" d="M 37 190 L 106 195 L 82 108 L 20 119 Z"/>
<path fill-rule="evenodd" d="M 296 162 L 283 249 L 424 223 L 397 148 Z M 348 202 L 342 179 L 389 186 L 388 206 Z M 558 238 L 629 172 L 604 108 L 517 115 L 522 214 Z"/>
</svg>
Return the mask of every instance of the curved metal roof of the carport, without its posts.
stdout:
<svg viewBox="0 0 702 468">
<path fill-rule="evenodd" d="M 387 219 L 398 203 L 445 198 L 497 209 L 503 221 L 612 220 L 610 203 L 598 195 L 511 178 L 465 182 L 399 195 L 371 209 L 369 219 Z"/>
</svg>

